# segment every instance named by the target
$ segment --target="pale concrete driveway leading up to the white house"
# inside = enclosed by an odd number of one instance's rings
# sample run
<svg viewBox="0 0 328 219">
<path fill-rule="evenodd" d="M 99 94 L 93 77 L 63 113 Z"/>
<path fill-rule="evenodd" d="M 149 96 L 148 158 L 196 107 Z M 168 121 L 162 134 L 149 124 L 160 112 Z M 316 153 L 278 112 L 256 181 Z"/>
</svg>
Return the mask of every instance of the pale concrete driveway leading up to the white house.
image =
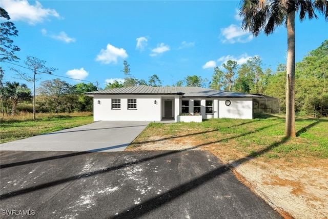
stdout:
<svg viewBox="0 0 328 219">
<path fill-rule="evenodd" d="M 95 122 L 0 144 L 1 151 L 124 151 L 149 122 Z"/>
</svg>

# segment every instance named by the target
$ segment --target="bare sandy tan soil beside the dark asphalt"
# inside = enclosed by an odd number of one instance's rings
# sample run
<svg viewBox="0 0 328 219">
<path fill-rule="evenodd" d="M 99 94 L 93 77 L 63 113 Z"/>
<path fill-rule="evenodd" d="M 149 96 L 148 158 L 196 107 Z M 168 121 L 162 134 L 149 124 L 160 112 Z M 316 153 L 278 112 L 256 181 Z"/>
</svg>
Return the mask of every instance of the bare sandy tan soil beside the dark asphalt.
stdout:
<svg viewBox="0 0 328 219">
<path fill-rule="evenodd" d="M 195 147 L 197 143 L 187 138 L 156 142 L 156 137 L 151 137 L 147 142 L 127 150 L 210 150 L 284 218 L 328 218 L 328 160 L 288 162 L 240 156 L 233 161 L 229 154 L 215 150 L 215 145 Z"/>
</svg>

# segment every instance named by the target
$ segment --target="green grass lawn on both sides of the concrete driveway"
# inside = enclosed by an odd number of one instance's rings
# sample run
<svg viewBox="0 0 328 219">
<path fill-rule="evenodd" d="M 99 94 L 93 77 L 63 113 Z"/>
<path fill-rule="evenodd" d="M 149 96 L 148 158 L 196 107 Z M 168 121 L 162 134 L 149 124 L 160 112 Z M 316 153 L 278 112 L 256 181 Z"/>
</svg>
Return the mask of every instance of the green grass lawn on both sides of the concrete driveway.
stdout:
<svg viewBox="0 0 328 219">
<path fill-rule="evenodd" d="M 91 113 L 37 114 L 2 117 L 1 143 L 34 135 L 72 128 L 93 122 Z M 149 139 L 192 141 L 194 147 L 220 154 L 225 160 L 257 156 L 264 158 L 328 158 L 328 119 L 296 118 L 297 137 L 284 136 L 281 115 L 259 114 L 253 120 L 211 119 L 202 123 L 151 123 L 129 148 L 137 148 Z M 165 146 L 163 147 L 165 150 Z"/>
</svg>

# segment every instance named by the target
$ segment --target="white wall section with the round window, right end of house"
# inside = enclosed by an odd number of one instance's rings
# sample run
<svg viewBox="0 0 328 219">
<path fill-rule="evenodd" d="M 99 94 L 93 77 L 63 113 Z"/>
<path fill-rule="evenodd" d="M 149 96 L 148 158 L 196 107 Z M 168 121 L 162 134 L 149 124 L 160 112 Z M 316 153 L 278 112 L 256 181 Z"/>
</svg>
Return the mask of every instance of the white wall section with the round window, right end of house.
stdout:
<svg viewBox="0 0 328 219">
<path fill-rule="evenodd" d="M 226 101 L 231 105 L 227 106 Z M 252 98 L 219 98 L 219 118 L 253 118 Z"/>
</svg>

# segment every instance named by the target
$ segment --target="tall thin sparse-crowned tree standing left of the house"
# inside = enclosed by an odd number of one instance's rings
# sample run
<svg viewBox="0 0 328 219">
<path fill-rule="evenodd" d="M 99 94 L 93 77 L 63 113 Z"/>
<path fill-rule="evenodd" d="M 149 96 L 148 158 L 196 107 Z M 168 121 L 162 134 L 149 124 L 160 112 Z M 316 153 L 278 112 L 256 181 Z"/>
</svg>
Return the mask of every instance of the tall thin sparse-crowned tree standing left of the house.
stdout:
<svg viewBox="0 0 328 219">
<path fill-rule="evenodd" d="M 29 73 L 25 73 L 20 71 L 19 69 L 11 68 L 13 71 L 17 72 L 18 75 L 23 78 L 27 82 L 33 83 L 33 120 L 35 120 L 35 81 L 37 75 L 39 74 L 51 74 L 52 72 L 56 71 L 56 68 L 46 67 L 46 61 L 40 60 L 36 57 L 27 56 L 26 61 L 24 62 L 27 66 L 26 68 L 33 72 L 33 76 Z"/>
</svg>

